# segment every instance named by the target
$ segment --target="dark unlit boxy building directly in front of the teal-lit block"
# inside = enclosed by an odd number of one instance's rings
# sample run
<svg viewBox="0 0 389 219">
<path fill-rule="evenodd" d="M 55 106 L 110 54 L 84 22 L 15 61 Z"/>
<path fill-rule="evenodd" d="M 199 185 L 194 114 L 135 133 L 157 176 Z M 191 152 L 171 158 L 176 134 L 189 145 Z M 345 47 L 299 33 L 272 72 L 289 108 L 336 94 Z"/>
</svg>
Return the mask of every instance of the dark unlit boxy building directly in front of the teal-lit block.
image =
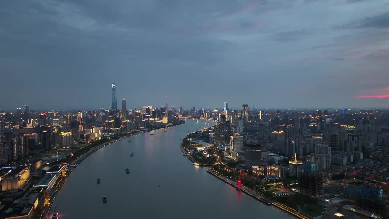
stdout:
<svg viewBox="0 0 389 219">
<path fill-rule="evenodd" d="M 323 177 L 321 173 L 300 173 L 298 186 L 301 193 L 311 196 L 321 195 L 323 192 Z"/>
</svg>

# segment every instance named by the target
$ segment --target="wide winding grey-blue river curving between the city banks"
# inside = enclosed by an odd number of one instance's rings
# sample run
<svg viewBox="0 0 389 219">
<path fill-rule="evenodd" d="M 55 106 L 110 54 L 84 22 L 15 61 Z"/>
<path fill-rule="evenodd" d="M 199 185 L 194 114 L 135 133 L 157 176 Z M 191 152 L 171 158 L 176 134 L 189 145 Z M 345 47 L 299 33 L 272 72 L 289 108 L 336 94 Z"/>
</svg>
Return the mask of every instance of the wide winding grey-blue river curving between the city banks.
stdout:
<svg viewBox="0 0 389 219">
<path fill-rule="evenodd" d="M 59 218 L 293 218 L 182 155 L 180 138 L 204 126 L 187 119 L 184 125 L 131 136 L 89 155 L 54 200 Z"/>
</svg>

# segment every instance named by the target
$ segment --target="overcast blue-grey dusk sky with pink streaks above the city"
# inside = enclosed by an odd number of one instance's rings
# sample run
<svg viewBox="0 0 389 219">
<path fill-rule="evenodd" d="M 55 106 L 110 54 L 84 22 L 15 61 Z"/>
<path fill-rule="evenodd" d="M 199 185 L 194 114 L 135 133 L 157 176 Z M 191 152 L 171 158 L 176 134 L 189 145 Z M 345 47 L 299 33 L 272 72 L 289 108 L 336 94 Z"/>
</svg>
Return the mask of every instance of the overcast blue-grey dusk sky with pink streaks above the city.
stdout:
<svg viewBox="0 0 389 219">
<path fill-rule="evenodd" d="M 108 2 L 108 3 L 107 3 Z M 389 107 L 389 0 L 9 0 L 0 108 Z"/>
</svg>

